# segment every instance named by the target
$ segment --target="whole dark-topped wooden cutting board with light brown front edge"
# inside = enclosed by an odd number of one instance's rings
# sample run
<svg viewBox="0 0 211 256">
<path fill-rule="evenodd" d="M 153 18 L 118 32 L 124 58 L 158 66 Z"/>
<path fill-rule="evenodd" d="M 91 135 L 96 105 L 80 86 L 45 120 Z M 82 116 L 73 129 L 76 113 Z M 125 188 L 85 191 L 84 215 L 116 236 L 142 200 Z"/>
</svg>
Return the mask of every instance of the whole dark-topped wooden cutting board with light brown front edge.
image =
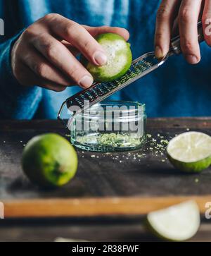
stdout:
<svg viewBox="0 0 211 256">
<path fill-rule="evenodd" d="M 58 121 L 0 121 L 0 201 L 5 217 L 147 214 L 190 199 L 198 202 L 203 214 L 205 203 L 211 202 L 211 168 L 200 174 L 181 173 L 167 161 L 165 147 L 156 146 L 186 130 L 211 135 L 211 118 L 149 119 L 147 133 L 152 137 L 142 150 L 78 152 L 74 180 L 58 190 L 40 190 L 21 170 L 23 147 L 34 135 L 65 136 L 68 131 Z"/>
</svg>

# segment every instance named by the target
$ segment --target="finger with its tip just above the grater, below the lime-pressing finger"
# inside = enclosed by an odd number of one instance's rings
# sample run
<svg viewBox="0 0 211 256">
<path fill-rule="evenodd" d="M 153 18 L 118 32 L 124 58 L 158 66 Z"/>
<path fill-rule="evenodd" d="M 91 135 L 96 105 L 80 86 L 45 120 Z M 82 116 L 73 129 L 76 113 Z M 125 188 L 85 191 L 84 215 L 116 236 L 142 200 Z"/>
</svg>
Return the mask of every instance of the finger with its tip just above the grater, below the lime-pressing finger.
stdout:
<svg viewBox="0 0 211 256">
<path fill-rule="evenodd" d="M 74 80 L 79 86 L 87 88 L 92 85 L 93 78 L 91 74 L 75 59 L 75 56 L 71 54 L 67 47 L 57 39 L 47 33 L 43 33 L 34 37 L 31 43 L 50 63 L 65 75 L 68 75 L 68 78 Z M 41 73 L 44 73 L 44 71 Z"/>
</svg>

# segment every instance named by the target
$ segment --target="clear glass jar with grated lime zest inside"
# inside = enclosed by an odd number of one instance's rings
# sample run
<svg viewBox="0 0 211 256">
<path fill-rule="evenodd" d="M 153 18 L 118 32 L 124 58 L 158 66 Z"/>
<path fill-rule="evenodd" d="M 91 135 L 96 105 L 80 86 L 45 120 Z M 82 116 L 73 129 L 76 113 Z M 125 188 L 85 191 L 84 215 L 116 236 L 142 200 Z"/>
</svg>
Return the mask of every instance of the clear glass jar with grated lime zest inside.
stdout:
<svg viewBox="0 0 211 256">
<path fill-rule="evenodd" d="M 146 142 L 145 105 L 123 101 L 95 104 L 75 116 L 70 142 L 95 152 L 136 150 Z"/>
</svg>

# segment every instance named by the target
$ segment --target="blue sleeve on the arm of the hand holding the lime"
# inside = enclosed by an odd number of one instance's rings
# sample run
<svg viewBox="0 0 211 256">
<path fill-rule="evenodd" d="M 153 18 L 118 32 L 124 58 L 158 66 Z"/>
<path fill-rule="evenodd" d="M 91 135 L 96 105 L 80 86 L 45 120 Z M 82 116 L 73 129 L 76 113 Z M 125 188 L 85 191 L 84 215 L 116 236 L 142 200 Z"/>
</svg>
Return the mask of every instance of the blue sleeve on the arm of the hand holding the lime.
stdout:
<svg viewBox="0 0 211 256">
<path fill-rule="evenodd" d="M 13 76 L 11 49 L 19 35 L 0 43 L 1 118 L 30 119 L 41 101 L 41 87 L 24 87 Z"/>
</svg>

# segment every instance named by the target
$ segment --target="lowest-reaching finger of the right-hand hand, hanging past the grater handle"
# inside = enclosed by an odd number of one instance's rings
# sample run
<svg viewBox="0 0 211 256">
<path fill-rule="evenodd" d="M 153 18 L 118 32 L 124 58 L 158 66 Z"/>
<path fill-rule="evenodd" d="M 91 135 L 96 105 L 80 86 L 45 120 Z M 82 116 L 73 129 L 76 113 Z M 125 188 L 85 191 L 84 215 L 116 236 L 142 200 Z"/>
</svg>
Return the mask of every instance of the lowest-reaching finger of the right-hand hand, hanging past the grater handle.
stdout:
<svg viewBox="0 0 211 256">
<path fill-rule="evenodd" d="M 196 64 L 200 61 L 197 23 L 201 4 L 202 0 L 183 0 L 179 9 L 181 50 L 186 61 L 191 64 Z"/>
</svg>

